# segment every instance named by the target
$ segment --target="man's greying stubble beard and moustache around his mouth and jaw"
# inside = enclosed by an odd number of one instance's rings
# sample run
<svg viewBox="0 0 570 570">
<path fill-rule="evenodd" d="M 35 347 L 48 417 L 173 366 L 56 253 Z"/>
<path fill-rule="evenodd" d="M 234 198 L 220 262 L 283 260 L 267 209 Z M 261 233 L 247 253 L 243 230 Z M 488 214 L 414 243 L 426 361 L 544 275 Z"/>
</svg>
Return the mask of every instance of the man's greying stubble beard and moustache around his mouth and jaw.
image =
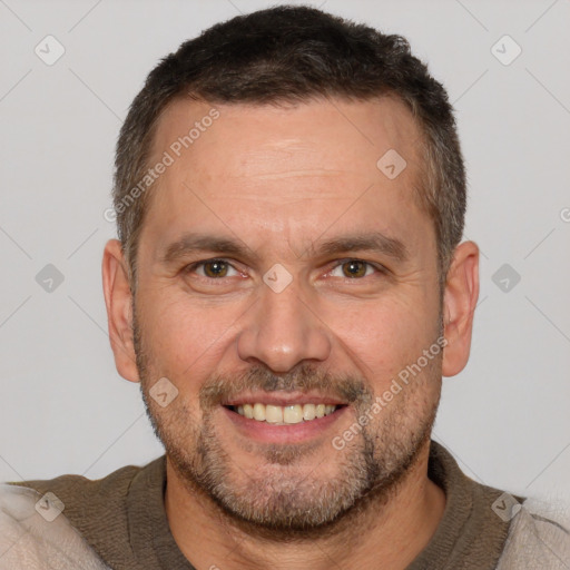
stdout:
<svg viewBox="0 0 570 570">
<path fill-rule="evenodd" d="M 306 469 L 314 443 L 246 443 L 244 452 L 255 451 L 256 456 L 255 469 L 246 473 L 218 436 L 215 416 L 220 413 L 219 402 L 246 387 L 268 392 L 320 387 L 348 401 L 356 424 L 358 417 L 370 414 L 375 397 L 364 379 L 332 375 L 309 366 L 285 376 L 275 376 L 262 366 L 245 374 L 217 375 L 200 387 L 203 420 L 198 422 L 181 394 L 165 409 L 149 396 L 159 375 L 153 373 L 153 358 L 144 345 L 135 311 L 134 338 L 147 415 L 178 479 L 189 493 L 217 505 L 220 514 L 247 532 L 273 540 L 333 534 L 354 518 L 382 508 L 429 445 L 440 399 L 441 355 L 373 421 L 360 426 L 358 434 L 343 450 L 335 450 L 328 441 L 316 445 L 321 453 L 323 445 L 330 445 L 321 463 L 327 463 L 328 469 L 335 463 L 334 472 L 324 479 L 318 462 Z M 438 390 L 429 387 L 433 385 Z M 299 462 L 304 469 L 298 469 Z"/>
</svg>

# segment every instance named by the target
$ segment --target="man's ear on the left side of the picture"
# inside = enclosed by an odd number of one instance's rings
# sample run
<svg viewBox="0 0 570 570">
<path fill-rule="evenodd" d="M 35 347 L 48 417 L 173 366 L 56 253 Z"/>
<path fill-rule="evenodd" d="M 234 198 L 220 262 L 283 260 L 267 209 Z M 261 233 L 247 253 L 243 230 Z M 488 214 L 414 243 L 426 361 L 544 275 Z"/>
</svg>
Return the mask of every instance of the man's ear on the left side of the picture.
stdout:
<svg viewBox="0 0 570 570">
<path fill-rule="evenodd" d="M 105 246 L 102 288 L 115 365 L 124 379 L 139 382 L 132 340 L 132 295 L 127 264 L 118 239 L 109 239 Z"/>
</svg>

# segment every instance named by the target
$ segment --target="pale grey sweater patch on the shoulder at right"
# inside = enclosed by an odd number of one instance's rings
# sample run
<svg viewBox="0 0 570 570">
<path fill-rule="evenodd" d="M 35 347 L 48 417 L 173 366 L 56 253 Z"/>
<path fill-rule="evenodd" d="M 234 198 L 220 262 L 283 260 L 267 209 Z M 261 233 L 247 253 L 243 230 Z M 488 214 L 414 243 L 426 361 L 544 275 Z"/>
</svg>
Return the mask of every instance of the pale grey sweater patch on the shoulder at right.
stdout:
<svg viewBox="0 0 570 570">
<path fill-rule="evenodd" d="M 498 570 L 535 568 L 570 568 L 569 505 L 529 499 L 513 515 Z"/>
</svg>

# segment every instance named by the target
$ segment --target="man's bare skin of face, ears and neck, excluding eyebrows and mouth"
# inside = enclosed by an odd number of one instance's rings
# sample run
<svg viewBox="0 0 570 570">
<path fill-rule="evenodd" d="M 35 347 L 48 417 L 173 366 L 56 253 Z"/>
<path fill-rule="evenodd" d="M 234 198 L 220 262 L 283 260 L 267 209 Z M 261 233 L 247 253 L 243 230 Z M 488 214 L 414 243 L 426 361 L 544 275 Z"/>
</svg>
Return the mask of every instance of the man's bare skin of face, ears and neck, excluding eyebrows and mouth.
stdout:
<svg viewBox="0 0 570 570">
<path fill-rule="evenodd" d="M 170 105 L 156 158 L 210 108 Z M 442 375 L 469 358 L 478 247 L 456 247 L 441 305 L 434 226 L 412 190 L 421 136 L 397 100 L 216 108 L 219 118 L 153 189 L 135 299 L 118 240 L 102 262 L 117 370 L 141 382 L 165 443 L 173 535 L 197 568 L 403 569 L 445 505 L 428 478 L 429 436 Z M 392 180 L 376 167 L 391 148 L 407 163 Z M 203 250 L 163 263 L 185 232 L 237 240 L 247 255 Z M 317 255 L 324 240 L 373 232 L 400 240 L 406 258 Z M 225 276 L 213 277 L 213 266 L 185 271 L 213 258 L 230 264 Z M 350 277 L 351 259 L 375 265 Z M 277 263 L 292 277 L 281 293 L 263 281 Z M 444 351 L 335 449 L 333 438 L 441 332 Z M 149 397 L 164 376 L 178 390 L 166 407 Z M 306 440 L 262 442 L 236 429 L 220 402 L 263 389 L 344 396 L 347 405 Z M 208 488 L 213 479 L 225 490 Z"/>
</svg>

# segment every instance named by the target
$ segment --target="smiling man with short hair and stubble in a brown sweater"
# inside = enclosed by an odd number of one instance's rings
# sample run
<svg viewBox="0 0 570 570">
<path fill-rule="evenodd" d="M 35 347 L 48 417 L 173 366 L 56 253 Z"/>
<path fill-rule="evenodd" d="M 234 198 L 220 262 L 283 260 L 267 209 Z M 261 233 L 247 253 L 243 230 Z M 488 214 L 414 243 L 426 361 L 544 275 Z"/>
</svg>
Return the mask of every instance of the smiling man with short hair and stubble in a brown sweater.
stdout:
<svg viewBox="0 0 570 570">
<path fill-rule="evenodd" d="M 109 335 L 166 454 L 4 485 L 0 568 L 569 568 L 562 525 L 430 439 L 479 252 L 403 38 L 309 8 L 214 26 L 149 75 L 116 167 Z"/>
</svg>

